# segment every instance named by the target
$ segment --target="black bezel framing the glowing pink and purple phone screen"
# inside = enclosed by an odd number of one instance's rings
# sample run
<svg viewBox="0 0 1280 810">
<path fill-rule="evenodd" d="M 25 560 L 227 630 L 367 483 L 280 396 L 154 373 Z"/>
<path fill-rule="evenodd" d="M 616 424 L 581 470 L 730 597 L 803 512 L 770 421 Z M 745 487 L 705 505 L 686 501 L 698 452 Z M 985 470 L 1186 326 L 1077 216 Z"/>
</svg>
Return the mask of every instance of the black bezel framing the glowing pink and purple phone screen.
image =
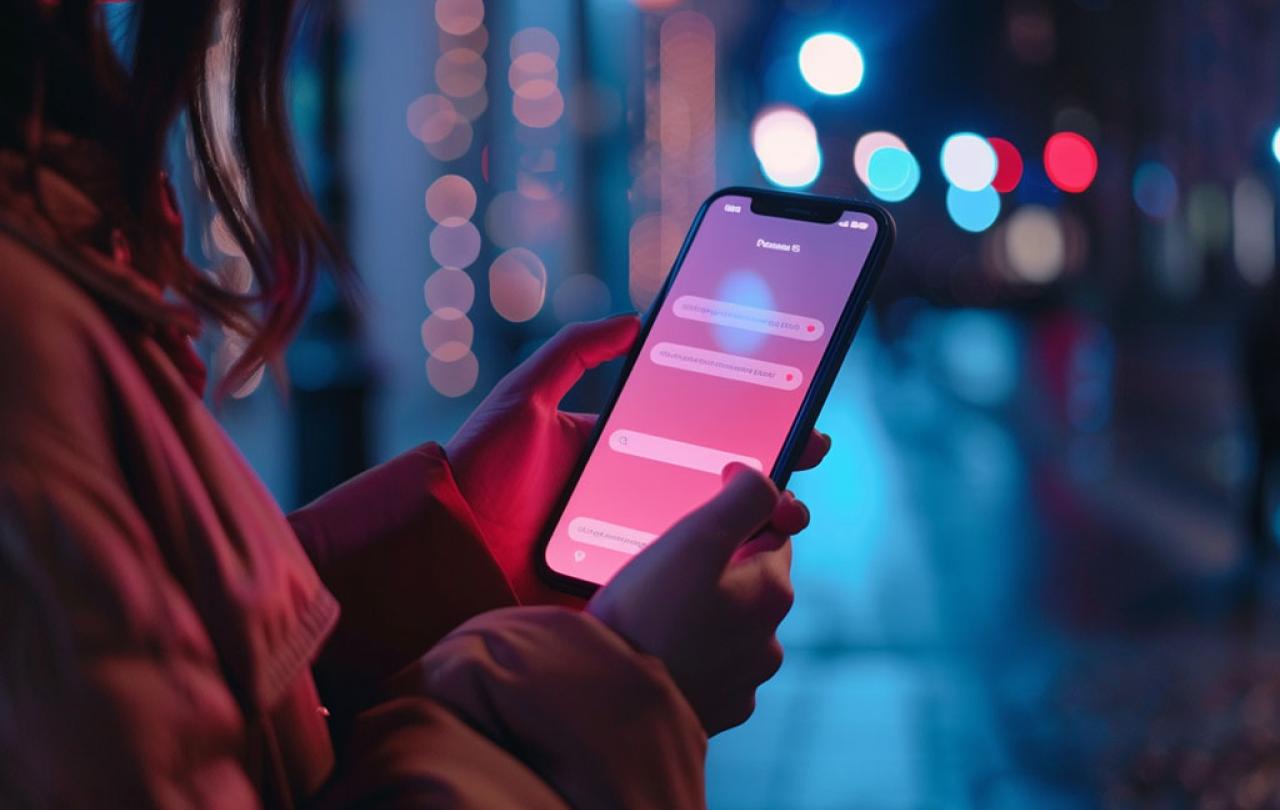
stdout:
<svg viewBox="0 0 1280 810">
<path fill-rule="evenodd" d="M 710 210 L 712 205 L 721 197 L 748 197 L 751 200 L 753 211 L 755 210 L 758 202 L 764 202 L 769 206 L 780 206 L 785 211 L 801 214 L 801 216 L 791 216 L 790 219 L 808 219 L 810 221 L 814 216 L 819 216 L 819 211 L 826 212 L 835 207 L 838 209 L 835 219 L 838 219 L 840 215 L 846 211 L 852 211 L 870 216 L 876 220 L 877 225 L 876 239 L 872 242 L 872 248 L 867 255 L 867 261 L 858 276 L 858 280 L 854 283 L 854 289 L 850 292 L 849 299 L 845 302 L 845 308 L 840 314 L 840 321 L 837 322 L 836 330 L 831 337 L 831 342 L 827 344 L 827 349 L 823 352 L 822 360 L 818 362 L 818 370 L 814 372 L 813 383 L 809 385 L 809 390 L 800 402 L 800 408 L 796 411 L 796 418 L 792 421 L 791 429 L 787 431 L 787 438 L 782 443 L 778 459 L 769 471 L 769 477 L 778 485 L 778 489 L 787 485 L 792 468 L 800 457 L 800 452 L 804 450 L 804 440 L 808 439 L 809 433 L 818 421 L 818 413 L 822 411 L 822 406 L 827 401 L 827 394 L 831 393 L 831 385 L 835 383 L 836 374 L 844 363 L 845 354 L 849 353 L 854 334 L 858 331 L 863 315 L 867 312 L 867 305 L 870 302 L 872 290 L 879 280 L 881 273 L 884 267 L 884 260 L 888 256 L 897 235 L 897 228 L 893 223 L 893 218 L 887 210 L 873 202 L 863 202 L 860 200 L 819 197 L 815 195 L 799 195 L 792 192 L 768 191 L 763 188 L 749 188 L 744 186 L 730 186 L 714 192 L 703 202 L 703 205 L 698 209 L 698 214 L 694 216 L 694 221 L 689 226 L 689 232 L 685 234 L 685 241 L 680 246 L 680 253 L 676 256 L 671 273 L 667 274 L 667 280 L 658 292 L 658 297 L 653 299 L 653 303 L 649 305 L 649 310 L 645 312 L 635 345 L 627 353 L 627 358 L 622 366 L 622 372 L 618 375 L 618 381 L 614 385 L 613 392 L 609 394 L 609 399 L 604 404 L 604 408 L 600 411 L 599 421 L 595 424 L 595 429 L 591 431 L 591 436 L 588 440 L 581 457 L 573 466 L 573 472 L 570 475 L 564 491 L 561 493 L 561 496 L 556 503 L 556 508 L 552 511 L 547 526 L 543 528 L 541 536 L 534 546 L 535 567 L 539 576 L 557 590 L 589 598 L 596 591 L 596 589 L 600 587 L 589 580 L 580 580 L 553 569 L 547 563 L 547 546 L 552 540 L 556 526 L 559 523 L 561 516 L 564 513 L 564 508 L 568 505 L 570 496 L 582 477 L 586 461 L 591 457 L 591 453 L 595 450 L 595 447 L 600 440 L 600 434 L 604 430 L 604 425 L 608 421 L 609 415 L 613 412 L 613 406 L 617 403 L 623 386 L 627 384 L 627 379 L 631 376 L 631 370 L 640 356 L 640 349 L 649 338 L 649 330 L 653 328 L 658 314 L 662 311 L 662 306 L 667 299 L 667 293 L 671 290 L 671 285 L 675 282 L 676 275 L 678 275 L 680 269 L 685 264 L 685 256 L 689 252 L 689 247 L 692 244 L 694 238 L 698 235 L 698 230 L 701 228 L 703 218 L 707 215 L 707 211 Z M 786 214 L 782 216 L 787 218 Z M 826 214 L 820 214 L 820 216 L 824 218 Z M 835 221 L 835 219 L 831 221 Z"/>
</svg>

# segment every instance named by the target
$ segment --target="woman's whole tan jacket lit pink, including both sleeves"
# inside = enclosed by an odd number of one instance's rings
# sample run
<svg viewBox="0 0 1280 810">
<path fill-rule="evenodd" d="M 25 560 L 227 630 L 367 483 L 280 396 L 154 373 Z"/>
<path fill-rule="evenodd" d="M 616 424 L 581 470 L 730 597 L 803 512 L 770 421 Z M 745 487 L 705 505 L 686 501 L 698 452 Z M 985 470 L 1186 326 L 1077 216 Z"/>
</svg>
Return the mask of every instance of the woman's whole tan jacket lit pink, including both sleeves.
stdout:
<svg viewBox="0 0 1280 810">
<path fill-rule="evenodd" d="M 663 665 L 586 614 L 513 607 L 440 447 L 285 518 L 204 407 L 186 337 L 69 276 L 15 161 L 0 805 L 704 805 L 705 736 Z M 88 200 L 41 183 L 91 243 Z"/>
</svg>

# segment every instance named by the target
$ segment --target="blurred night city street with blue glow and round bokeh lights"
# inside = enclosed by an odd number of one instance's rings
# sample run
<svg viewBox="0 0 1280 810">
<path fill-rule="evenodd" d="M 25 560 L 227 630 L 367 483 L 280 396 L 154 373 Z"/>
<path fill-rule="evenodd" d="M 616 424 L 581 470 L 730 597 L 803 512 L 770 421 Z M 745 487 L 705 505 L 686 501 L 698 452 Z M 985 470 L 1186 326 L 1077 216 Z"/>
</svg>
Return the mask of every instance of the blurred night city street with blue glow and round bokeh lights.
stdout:
<svg viewBox="0 0 1280 810">
<path fill-rule="evenodd" d="M 1277 806 L 1275 0 L 310 24 L 300 157 L 370 316 L 321 289 L 288 403 L 219 406 L 282 503 L 447 439 L 564 324 L 644 311 L 714 189 L 874 200 L 897 247 L 835 449 L 791 482 L 787 659 L 712 741 L 710 805 Z"/>
</svg>

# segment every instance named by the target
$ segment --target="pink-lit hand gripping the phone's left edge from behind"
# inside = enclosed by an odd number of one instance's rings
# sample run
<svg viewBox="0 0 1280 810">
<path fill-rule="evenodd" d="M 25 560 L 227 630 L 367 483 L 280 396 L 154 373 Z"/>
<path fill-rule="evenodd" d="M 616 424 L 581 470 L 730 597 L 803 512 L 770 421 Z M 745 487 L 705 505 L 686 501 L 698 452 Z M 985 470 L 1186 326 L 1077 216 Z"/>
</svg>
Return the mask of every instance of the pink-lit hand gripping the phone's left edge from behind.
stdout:
<svg viewBox="0 0 1280 810">
<path fill-rule="evenodd" d="M 561 329 L 445 445 L 458 489 L 524 603 L 581 604 L 545 586 L 534 567 L 534 545 L 595 427 L 594 415 L 566 413 L 559 402 L 588 369 L 625 354 L 639 330 L 634 315 Z M 815 466 L 829 448 L 814 434 L 797 468 Z"/>
</svg>

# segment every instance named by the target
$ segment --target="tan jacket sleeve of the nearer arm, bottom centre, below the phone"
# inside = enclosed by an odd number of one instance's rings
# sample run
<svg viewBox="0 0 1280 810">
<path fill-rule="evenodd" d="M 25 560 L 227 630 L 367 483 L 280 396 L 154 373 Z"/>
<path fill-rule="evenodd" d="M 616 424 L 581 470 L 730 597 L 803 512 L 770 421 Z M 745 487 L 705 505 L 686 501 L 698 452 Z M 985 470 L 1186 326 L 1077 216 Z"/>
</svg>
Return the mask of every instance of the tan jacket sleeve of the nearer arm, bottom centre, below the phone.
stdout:
<svg viewBox="0 0 1280 810">
<path fill-rule="evenodd" d="M 696 810 L 705 752 L 658 660 L 585 613 L 513 608 L 389 682 L 355 719 L 323 804 Z"/>
</svg>

